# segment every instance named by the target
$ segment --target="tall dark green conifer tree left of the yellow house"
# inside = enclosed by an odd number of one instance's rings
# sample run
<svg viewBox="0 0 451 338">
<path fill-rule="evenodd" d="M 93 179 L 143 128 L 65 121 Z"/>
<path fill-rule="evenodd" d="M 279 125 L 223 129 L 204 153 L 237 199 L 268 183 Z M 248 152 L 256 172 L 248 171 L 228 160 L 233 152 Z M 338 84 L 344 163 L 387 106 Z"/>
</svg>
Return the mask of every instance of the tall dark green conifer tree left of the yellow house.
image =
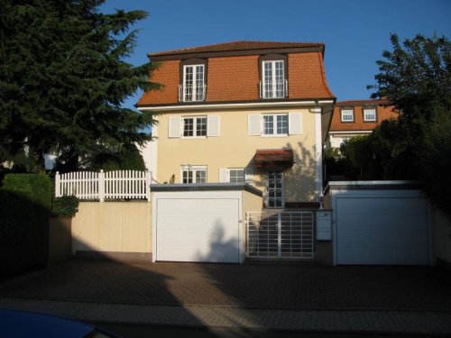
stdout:
<svg viewBox="0 0 451 338">
<path fill-rule="evenodd" d="M 143 11 L 102 14 L 103 0 L 0 0 L 0 161 L 24 149 L 42 162 L 149 141 L 154 120 L 121 105 L 149 82 L 150 63 L 125 61 Z"/>
</svg>

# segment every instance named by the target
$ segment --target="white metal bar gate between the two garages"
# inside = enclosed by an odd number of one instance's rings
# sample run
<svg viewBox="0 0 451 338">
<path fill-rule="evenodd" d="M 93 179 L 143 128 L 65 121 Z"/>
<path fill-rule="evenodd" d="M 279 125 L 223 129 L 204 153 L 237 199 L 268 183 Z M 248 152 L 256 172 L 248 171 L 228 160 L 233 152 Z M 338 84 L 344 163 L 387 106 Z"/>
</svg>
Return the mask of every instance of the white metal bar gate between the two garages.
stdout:
<svg viewBox="0 0 451 338">
<path fill-rule="evenodd" d="M 313 211 L 246 213 L 248 258 L 313 259 Z"/>
</svg>

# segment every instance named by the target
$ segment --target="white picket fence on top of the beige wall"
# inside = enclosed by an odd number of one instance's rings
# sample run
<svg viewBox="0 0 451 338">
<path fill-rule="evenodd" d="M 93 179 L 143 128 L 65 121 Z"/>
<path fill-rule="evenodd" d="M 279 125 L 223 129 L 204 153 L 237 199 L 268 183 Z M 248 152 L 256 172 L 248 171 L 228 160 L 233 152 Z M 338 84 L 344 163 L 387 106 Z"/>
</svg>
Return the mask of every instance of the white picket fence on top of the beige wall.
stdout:
<svg viewBox="0 0 451 338">
<path fill-rule="evenodd" d="M 75 195 L 79 199 L 147 199 L 151 200 L 150 171 L 117 170 L 78 171 L 55 175 L 55 196 Z"/>
</svg>

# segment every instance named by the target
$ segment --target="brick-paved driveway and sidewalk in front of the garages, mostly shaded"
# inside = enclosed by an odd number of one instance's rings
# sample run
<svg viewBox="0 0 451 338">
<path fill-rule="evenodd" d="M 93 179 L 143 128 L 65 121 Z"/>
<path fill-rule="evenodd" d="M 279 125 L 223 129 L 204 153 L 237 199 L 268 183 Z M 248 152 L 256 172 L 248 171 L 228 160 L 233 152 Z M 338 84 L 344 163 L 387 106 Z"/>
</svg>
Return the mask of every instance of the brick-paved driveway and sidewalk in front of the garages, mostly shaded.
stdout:
<svg viewBox="0 0 451 338">
<path fill-rule="evenodd" d="M 450 304 L 448 275 L 415 267 L 74 260 L 0 284 L 0 307 L 97 323 L 445 336 Z"/>
</svg>

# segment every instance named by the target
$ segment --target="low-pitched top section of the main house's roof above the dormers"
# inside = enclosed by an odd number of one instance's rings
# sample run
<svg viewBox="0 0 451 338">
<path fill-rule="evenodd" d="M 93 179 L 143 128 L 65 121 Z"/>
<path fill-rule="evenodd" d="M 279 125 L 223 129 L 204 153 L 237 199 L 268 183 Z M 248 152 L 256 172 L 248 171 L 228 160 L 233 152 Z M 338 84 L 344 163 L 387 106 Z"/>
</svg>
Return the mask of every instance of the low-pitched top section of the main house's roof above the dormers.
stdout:
<svg viewBox="0 0 451 338">
<path fill-rule="evenodd" d="M 189 47 L 179 50 L 163 50 L 149 53 L 152 56 L 169 56 L 179 54 L 240 51 L 240 50 L 272 50 L 272 49 L 299 49 L 299 48 L 324 48 L 324 43 L 319 42 L 274 42 L 274 41 L 231 41 L 210 44 L 199 47 Z"/>
</svg>

